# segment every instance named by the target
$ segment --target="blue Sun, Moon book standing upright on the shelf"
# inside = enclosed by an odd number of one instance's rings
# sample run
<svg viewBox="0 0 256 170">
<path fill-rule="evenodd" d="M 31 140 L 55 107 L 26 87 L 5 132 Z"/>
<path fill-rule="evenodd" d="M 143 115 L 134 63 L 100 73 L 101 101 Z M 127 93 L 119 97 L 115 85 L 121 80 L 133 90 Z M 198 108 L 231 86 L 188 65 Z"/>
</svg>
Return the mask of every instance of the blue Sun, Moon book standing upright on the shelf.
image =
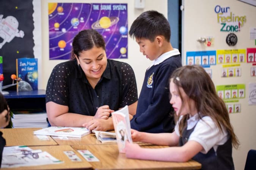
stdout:
<svg viewBox="0 0 256 170">
<path fill-rule="evenodd" d="M 17 85 L 17 91 L 38 90 L 38 59 L 16 59 L 17 77 L 21 80 Z"/>
</svg>

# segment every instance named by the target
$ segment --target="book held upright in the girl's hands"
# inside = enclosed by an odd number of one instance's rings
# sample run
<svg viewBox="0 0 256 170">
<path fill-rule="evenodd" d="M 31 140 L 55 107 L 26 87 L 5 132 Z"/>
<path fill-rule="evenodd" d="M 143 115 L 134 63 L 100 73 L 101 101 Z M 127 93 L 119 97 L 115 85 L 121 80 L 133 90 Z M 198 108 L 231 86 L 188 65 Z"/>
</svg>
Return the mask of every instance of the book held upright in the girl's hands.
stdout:
<svg viewBox="0 0 256 170">
<path fill-rule="evenodd" d="M 128 106 L 126 105 L 124 108 L 113 112 L 112 119 L 119 152 L 125 153 L 125 142 L 128 140 L 132 143 Z"/>
</svg>

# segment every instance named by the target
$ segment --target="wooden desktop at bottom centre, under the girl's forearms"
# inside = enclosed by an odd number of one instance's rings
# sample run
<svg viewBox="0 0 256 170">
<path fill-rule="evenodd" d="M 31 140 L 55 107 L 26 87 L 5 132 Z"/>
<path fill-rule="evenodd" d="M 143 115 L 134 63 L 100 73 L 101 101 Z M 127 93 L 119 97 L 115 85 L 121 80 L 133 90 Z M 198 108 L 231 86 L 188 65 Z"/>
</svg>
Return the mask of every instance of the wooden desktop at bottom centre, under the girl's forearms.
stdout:
<svg viewBox="0 0 256 170">
<path fill-rule="evenodd" d="M 156 146 L 141 144 L 148 148 L 161 148 L 167 146 Z M 138 169 L 172 169 L 172 170 L 187 170 L 200 169 L 201 164 L 190 160 L 188 162 L 162 162 L 162 161 L 147 161 L 139 159 L 128 159 L 123 153 L 119 153 L 116 144 L 112 145 L 72 145 L 75 150 L 89 150 L 96 156 L 99 162 L 90 162 L 92 167 L 97 170 L 138 170 Z"/>
</svg>

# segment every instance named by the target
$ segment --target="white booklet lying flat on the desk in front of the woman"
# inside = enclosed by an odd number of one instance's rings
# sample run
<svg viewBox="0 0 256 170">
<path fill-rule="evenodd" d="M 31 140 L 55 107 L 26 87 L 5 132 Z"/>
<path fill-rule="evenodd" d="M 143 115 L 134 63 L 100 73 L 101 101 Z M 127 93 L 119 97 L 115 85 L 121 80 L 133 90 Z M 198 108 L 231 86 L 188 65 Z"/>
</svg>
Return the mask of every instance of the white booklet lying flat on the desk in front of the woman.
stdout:
<svg viewBox="0 0 256 170">
<path fill-rule="evenodd" d="M 66 137 L 74 137 L 74 138 L 81 138 L 90 133 L 91 131 L 85 127 L 51 126 L 44 129 L 33 131 L 33 134 L 37 134 L 37 135 L 66 136 Z"/>
</svg>

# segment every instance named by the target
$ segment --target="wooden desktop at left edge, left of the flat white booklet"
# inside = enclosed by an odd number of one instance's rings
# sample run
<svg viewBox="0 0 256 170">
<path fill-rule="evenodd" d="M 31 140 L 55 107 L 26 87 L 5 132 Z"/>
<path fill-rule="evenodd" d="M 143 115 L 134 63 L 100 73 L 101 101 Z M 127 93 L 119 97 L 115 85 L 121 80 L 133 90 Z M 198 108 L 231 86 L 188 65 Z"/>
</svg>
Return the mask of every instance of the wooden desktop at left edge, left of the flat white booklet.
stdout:
<svg viewBox="0 0 256 170">
<path fill-rule="evenodd" d="M 47 141 L 40 140 L 33 131 L 41 128 L 6 128 L 0 129 L 3 132 L 3 138 L 6 140 L 5 146 L 39 146 L 39 145 L 58 145 L 50 136 Z"/>
</svg>

